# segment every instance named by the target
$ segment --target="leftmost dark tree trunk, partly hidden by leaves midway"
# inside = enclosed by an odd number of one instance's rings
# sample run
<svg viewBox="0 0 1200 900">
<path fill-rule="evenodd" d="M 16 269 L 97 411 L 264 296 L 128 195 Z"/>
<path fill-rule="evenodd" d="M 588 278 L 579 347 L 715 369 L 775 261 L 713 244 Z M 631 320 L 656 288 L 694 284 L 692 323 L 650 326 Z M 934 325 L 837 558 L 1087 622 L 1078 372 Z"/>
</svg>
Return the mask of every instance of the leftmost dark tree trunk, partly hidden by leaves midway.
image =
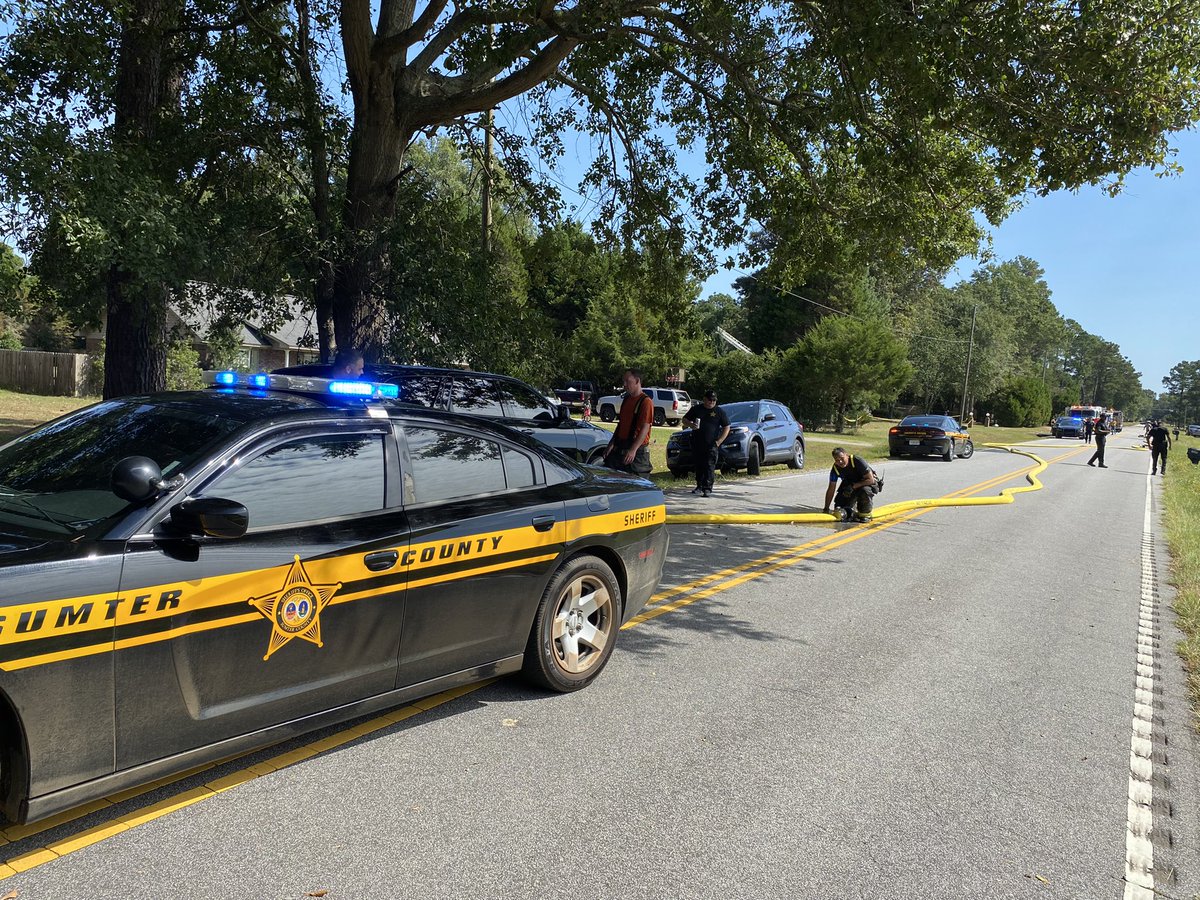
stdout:
<svg viewBox="0 0 1200 900">
<path fill-rule="evenodd" d="M 114 152 L 156 162 L 155 138 L 163 113 L 178 109 L 179 60 L 169 30 L 182 0 L 133 0 L 121 29 L 113 103 Z M 162 166 L 164 173 L 169 166 Z M 166 174 L 164 178 L 173 179 Z M 160 391 L 167 386 L 167 296 L 114 262 L 107 274 L 104 397 Z"/>
</svg>

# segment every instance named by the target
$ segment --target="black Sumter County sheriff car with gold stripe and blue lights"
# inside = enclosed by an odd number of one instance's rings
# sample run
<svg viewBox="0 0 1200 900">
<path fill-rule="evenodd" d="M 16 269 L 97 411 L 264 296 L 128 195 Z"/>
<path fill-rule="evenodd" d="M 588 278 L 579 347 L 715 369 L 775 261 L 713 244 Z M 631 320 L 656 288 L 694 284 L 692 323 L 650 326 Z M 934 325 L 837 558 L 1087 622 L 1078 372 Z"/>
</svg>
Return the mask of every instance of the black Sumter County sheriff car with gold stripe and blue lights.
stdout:
<svg viewBox="0 0 1200 900">
<path fill-rule="evenodd" d="M 221 373 L 0 446 L 14 821 L 480 678 L 604 668 L 662 494 L 395 385 Z"/>
</svg>

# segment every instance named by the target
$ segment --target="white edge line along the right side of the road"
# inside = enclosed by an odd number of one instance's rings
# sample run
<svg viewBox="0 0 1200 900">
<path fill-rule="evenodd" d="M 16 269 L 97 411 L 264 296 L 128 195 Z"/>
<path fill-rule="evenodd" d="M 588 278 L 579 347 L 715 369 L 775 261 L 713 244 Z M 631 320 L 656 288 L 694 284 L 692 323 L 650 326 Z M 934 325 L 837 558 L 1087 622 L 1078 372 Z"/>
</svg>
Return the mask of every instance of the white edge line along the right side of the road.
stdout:
<svg viewBox="0 0 1200 900">
<path fill-rule="evenodd" d="M 1154 722 L 1154 535 L 1151 497 L 1154 482 L 1146 473 L 1146 508 L 1141 522 L 1141 598 L 1138 607 L 1138 662 L 1129 740 L 1129 799 L 1126 817 L 1126 900 L 1153 900 L 1154 763 L 1151 733 Z"/>
</svg>

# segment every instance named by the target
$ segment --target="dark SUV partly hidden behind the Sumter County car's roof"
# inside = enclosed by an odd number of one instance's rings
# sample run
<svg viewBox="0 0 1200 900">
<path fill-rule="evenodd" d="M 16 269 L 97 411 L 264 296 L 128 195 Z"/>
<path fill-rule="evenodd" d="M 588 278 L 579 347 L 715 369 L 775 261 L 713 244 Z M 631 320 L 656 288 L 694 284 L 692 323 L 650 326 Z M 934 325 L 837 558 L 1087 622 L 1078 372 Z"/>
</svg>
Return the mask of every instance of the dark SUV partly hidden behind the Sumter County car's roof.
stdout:
<svg viewBox="0 0 1200 900">
<path fill-rule="evenodd" d="M 329 378 L 332 366 L 311 364 L 276 368 L 276 374 Z M 488 372 L 428 366 L 368 365 L 362 378 L 400 386 L 400 400 L 430 409 L 478 415 L 529 434 L 578 462 L 599 464 L 612 437 L 592 422 L 571 419 L 524 382 Z"/>
</svg>

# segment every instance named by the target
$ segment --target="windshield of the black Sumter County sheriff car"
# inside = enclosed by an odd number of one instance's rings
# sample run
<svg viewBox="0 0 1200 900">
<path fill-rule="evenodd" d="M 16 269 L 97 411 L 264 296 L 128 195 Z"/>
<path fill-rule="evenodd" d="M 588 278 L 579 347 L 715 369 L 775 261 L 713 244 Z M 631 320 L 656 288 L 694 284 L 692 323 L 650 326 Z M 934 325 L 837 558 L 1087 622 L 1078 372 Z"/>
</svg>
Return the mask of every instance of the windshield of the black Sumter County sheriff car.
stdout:
<svg viewBox="0 0 1200 900">
<path fill-rule="evenodd" d="M 126 456 L 149 456 L 172 475 L 245 424 L 186 403 L 113 400 L 0 446 L 0 520 L 74 535 L 128 504 L 109 487 Z"/>
</svg>

